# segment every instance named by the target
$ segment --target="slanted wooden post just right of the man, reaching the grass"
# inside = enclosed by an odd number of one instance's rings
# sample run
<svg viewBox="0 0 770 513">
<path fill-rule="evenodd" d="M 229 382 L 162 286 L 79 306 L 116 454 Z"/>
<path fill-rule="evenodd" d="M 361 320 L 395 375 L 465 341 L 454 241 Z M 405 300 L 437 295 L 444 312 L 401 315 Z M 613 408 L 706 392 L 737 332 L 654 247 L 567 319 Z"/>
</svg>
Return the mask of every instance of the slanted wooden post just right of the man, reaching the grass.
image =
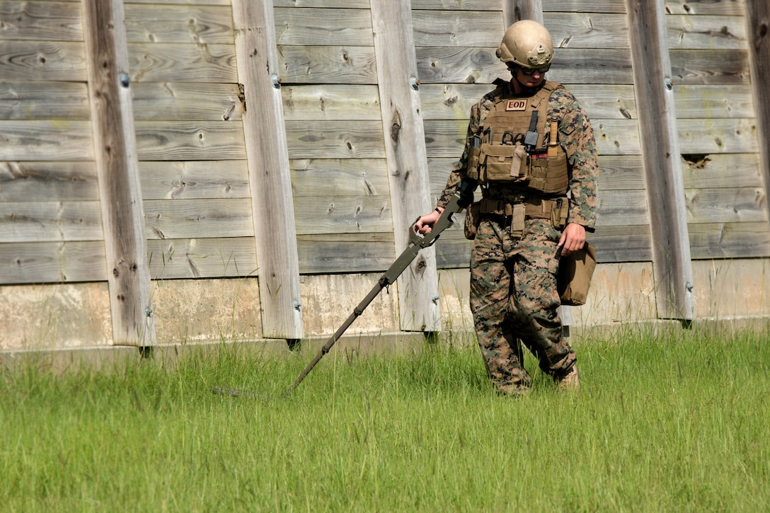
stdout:
<svg viewBox="0 0 770 513">
<path fill-rule="evenodd" d="M 626 0 L 642 162 L 652 232 L 658 316 L 695 315 L 685 186 L 663 2 Z"/>
</svg>

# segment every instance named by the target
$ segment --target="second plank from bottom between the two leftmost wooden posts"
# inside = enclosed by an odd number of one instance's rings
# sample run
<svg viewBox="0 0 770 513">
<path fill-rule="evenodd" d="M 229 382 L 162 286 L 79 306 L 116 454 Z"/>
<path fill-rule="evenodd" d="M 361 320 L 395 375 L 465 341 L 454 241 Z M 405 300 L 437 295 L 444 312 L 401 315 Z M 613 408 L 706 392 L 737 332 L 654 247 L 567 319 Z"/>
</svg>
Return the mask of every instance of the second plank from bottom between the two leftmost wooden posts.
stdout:
<svg viewBox="0 0 770 513">
<path fill-rule="evenodd" d="M 251 203 L 233 199 L 147 199 L 147 239 L 253 236 Z"/>
</svg>

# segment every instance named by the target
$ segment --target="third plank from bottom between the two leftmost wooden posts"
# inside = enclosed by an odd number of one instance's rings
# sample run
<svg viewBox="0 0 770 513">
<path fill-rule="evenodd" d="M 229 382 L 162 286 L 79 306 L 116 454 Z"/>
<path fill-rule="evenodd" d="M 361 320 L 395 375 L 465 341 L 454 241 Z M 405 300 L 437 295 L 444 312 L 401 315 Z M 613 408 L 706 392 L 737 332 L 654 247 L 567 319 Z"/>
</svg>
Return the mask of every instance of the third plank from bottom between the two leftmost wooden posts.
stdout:
<svg viewBox="0 0 770 513">
<path fill-rule="evenodd" d="M 245 160 L 139 162 L 144 199 L 248 198 Z"/>
</svg>

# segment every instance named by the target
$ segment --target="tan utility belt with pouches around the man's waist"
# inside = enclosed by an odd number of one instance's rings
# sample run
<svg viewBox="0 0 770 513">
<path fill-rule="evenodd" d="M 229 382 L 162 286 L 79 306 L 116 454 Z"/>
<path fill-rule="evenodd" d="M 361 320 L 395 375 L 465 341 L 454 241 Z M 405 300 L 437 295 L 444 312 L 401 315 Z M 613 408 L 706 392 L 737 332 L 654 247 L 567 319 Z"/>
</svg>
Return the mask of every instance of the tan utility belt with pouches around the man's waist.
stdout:
<svg viewBox="0 0 770 513">
<path fill-rule="evenodd" d="M 528 198 L 521 203 L 506 203 L 483 198 L 472 203 L 465 213 L 465 238 L 476 238 L 479 224 L 484 218 L 495 219 L 500 223 L 510 223 L 511 236 L 521 238 L 524 235 L 524 221 L 527 219 L 550 219 L 557 230 L 567 224 L 569 199 Z"/>
</svg>

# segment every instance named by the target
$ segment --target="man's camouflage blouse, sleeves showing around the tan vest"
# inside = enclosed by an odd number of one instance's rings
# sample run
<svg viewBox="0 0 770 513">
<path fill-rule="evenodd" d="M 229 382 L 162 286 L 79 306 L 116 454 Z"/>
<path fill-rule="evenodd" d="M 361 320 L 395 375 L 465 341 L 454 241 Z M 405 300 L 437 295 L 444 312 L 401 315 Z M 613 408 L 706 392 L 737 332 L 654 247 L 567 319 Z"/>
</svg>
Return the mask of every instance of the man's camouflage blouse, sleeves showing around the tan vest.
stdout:
<svg viewBox="0 0 770 513">
<path fill-rule="evenodd" d="M 508 85 L 502 87 L 507 89 Z M 487 93 L 480 102 L 471 107 L 463 156 L 454 165 L 447 185 L 437 202 L 438 206 L 444 207 L 449 202 L 460 180 L 466 176 L 470 138 L 479 132 L 479 126 L 487 118 L 494 105 L 494 99 L 500 95 L 500 92 L 498 88 Z M 552 115 L 561 119 L 558 140 L 564 152 L 567 153 L 570 173 L 571 199 L 567 222 L 580 224 L 586 230 L 593 231 L 596 223 L 599 165 L 591 120 L 588 119 L 580 102 L 563 87 L 552 92 L 548 100 L 548 116 Z M 487 197 L 502 199 L 507 203 L 518 203 L 532 193 L 500 183 L 489 186 L 485 194 Z"/>
</svg>

